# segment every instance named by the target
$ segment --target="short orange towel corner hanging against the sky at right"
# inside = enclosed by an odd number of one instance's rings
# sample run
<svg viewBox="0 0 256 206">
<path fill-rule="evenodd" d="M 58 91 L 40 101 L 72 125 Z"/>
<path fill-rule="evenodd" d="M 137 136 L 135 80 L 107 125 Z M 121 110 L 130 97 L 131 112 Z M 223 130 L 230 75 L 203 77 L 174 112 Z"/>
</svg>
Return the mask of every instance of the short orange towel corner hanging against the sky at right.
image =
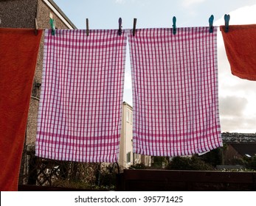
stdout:
<svg viewBox="0 0 256 206">
<path fill-rule="evenodd" d="M 256 24 L 232 25 L 229 32 L 221 26 L 221 33 L 232 74 L 256 80 Z"/>
</svg>

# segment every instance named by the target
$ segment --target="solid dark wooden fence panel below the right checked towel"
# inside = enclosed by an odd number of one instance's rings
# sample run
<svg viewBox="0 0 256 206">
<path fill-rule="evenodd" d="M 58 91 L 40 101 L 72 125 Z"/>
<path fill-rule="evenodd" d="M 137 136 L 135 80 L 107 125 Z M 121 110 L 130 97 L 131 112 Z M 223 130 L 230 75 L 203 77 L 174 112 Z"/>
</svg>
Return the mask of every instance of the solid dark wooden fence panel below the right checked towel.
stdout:
<svg viewBox="0 0 256 206">
<path fill-rule="evenodd" d="M 256 191 L 256 172 L 124 170 L 118 191 Z"/>
</svg>

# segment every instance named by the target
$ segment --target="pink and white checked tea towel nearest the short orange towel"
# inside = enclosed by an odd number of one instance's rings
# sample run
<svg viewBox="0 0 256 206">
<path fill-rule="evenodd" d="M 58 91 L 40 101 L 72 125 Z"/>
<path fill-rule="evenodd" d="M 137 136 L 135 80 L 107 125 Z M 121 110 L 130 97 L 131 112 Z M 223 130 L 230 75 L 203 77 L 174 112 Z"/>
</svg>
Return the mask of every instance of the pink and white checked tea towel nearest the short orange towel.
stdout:
<svg viewBox="0 0 256 206">
<path fill-rule="evenodd" d="M 222 146 L 216 34 L 209 27 L 128 34 L 134 152 L 171 157 Z"/>
</svg>

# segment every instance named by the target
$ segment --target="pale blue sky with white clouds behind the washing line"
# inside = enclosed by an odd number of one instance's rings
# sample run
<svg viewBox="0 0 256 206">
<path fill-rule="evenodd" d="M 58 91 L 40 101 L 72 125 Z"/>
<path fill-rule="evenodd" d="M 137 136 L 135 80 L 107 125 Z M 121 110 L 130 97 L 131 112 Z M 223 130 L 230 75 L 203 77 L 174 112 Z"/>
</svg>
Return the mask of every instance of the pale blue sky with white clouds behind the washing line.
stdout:
<svg viewBox="0 0 256 206">
<path fill-rule="evenodd" d="M 256 24 L 256 0 L 54 0 L 78 29 L 171 28 L 173 16 L 177 27 L 208 26 L 214 15 L 214 26 Z M 256 48 L 256 45 L 255 45 Z M 218 85 L 222 132 L 256 132 L 256 82 L 231 74 L 224 42 L 218 29 Z M 127 53 L 125 64 L 125 102 L 132 105 L 131 65 Z"/>
</svg>

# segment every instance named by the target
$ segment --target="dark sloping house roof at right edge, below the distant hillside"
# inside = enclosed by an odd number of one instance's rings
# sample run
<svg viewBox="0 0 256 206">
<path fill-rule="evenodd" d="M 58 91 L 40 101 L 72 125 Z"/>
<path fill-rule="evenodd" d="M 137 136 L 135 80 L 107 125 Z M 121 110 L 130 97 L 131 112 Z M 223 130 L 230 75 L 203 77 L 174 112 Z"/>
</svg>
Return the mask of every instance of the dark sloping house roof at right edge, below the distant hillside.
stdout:
<svg viewBox="0 0 256 206">
<path fill-rule="evenodd" d="M 230 143 L 230 145 L 242 156 L 246 154 L 247 157 L 256 155 L 256 143 Z"/>
</svg>

